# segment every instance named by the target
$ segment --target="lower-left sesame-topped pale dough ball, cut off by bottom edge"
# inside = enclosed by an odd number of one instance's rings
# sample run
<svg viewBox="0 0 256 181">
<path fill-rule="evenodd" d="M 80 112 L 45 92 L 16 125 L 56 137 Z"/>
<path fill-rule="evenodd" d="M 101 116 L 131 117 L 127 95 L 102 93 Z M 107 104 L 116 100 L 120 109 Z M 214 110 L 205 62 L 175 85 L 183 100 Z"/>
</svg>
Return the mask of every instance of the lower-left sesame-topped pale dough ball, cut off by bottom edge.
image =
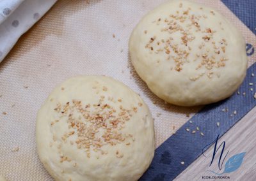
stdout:
<svg viewBox="0 0 256 181">
<path fill-rule="evenodd" d="M 154 143 L 148 106 L 107 76 L 61 83 L 36 119 L 38 155 L 56 180 L 138 180 L 152 161 Z"/>
</svg>

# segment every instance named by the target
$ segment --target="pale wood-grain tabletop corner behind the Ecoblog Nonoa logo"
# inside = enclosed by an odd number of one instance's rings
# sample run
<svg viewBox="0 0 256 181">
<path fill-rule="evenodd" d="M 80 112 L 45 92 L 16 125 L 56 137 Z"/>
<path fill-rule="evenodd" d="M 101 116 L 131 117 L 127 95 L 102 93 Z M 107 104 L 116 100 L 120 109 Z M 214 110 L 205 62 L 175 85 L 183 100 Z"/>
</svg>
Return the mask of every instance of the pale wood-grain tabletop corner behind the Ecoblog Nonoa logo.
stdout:
<svg viewBox="0 0 256 181">
<path fill-rule="evenodd" d="M 228 120 L 227 120 L 228 121 Z M 221 125 L 220 125 L 221 126 Z M 241 119 L 235 126 L 233 126 L 227 133 L 225 133 L 220 140 L 218 145 L 222 141 L 226 142 L 225 154 L 227 158 L 223 163 L 222 170 L 218 170 L 218 158 L 220 157 L 220 152 L 216 154 L 216 158 L 211 163 L 212 153 L 214 145 L 212 145 L 203 155 L 198 157 L 191 165 L 186 168 L 180 175 L 175 178 L 175 180 L 246 180 L 254 181 L 256 180 L 256 107 L 253 108 L 243 119 Z M 213 141 L 213 140 L 212 140 Z M 244 156 L 243 163 L 239 169 L 232 173 L 225 173 L 223 176 L 228 176 L 230 179 L 203 179 L 202 176 L 214 176 L 207 170 L 212 170 L 217 173 L 222 173 L 225 167 L 225 162 L 235 154 L 241 152 L 246 152 Z M 186 161 L 184 161 L 186 162 Z"/>
</svg>

